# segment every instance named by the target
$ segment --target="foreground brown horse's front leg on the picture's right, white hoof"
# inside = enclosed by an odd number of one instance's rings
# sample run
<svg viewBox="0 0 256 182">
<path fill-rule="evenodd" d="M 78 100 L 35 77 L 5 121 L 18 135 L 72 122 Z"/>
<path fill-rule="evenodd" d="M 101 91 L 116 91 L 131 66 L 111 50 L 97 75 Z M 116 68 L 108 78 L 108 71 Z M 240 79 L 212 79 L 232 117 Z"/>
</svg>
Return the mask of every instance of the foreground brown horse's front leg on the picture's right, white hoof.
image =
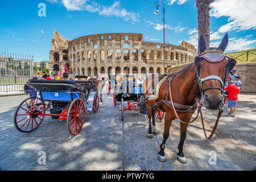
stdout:
<svg viewBox="0 0 256 182">
<path fill-rule="evenodd" d="M 190 119 L 187 121 L 184 121 L 184 122 L 189 122 L 189 121 L 190 121 Z M 188 124 L 180 123 L 180 142 L 177 147 L 179 150 L 179 152 L 177 153 L 177 160 L 179 160 L 179 162 L 181 162 L 181 163 L 187 163 L 187 159 L 185 158 L 185 155 L 183 154 L 183 145 L 184 145 L 184 141 L 187 136 L 187 127 L 188 127 Z"/>
</svg>

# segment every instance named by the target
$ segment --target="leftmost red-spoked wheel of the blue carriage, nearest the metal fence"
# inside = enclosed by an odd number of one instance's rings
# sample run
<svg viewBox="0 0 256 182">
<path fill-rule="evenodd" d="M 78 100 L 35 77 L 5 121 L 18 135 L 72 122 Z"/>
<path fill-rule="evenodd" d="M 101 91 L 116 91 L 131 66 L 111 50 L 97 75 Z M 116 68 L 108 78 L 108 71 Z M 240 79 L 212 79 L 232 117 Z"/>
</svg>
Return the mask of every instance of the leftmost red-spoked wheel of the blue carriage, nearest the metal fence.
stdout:
<svg viewBox="0 0 256 182">
<path fill-rule="evenodd" d="M 44 119 L 46 105 L 38 97 L 26 98 L 17 107 L 14 114 L 14 126 L 17 130 L 27 133 L 38 128 Z"/>
</svg>

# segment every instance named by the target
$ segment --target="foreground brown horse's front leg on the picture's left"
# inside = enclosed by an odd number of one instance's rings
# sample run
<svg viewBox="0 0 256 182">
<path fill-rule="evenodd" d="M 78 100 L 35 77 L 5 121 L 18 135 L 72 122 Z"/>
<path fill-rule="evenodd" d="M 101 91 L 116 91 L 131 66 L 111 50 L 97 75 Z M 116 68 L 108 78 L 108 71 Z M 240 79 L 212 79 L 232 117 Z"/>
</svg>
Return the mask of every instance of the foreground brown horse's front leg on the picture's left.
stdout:
<svg viewBox="0 0 256 182">
<path fill-rule="evenodd" d="M 164 118 L 163 142 L 160 144 L 160 151 L 158 152 L 158 160 L 160 160 L 160 162 L 167 161 L 164 148 L 166 148 L 166 140 L 170 135 L 170 127 L 173 119 L 174 118 L 171 117 L 171 113 L 166 113 L 166 117 Z"/>
</svg>

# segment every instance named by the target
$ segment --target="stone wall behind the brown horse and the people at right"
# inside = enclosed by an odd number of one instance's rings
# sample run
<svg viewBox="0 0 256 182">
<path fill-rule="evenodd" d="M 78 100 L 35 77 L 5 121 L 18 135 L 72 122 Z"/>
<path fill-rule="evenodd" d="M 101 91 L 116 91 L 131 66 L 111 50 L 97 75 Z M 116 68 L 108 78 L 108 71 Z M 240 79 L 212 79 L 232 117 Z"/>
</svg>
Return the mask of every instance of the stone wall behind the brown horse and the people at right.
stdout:
<svg viewBox="0 0 256 182">
<path fill-rule="evenodd" d="M 179 72 L 188 64 L 179 67 L 167 69 L 168 74 Z M 234 69 L 237 69 L 237 75 L 242 81 L 241 92 L 256 92 L 256 63 L 237 64 Z"/>
</svg>

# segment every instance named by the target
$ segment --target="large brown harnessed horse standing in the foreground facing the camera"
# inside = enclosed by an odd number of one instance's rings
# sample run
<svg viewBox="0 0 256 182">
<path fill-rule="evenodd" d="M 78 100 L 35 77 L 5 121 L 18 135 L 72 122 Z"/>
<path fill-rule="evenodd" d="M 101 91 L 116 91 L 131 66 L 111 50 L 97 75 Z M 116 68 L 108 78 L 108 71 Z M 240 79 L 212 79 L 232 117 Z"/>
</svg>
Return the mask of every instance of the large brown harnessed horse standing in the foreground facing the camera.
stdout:
<svg viewBox="0 0 256 182">
<path fill-rule="evenodd" d="M 164 148 L 174 119 L 180 119 L 181 121 L 177 159 L 181 163 L 186 163 L 183 144 L 187 134 L 188 123 L 191 121 L 192 114 L 197 110 L 197 103 L 202 103 L 207 109 L 211 110 L 222 108 L 223 83 L 236 65 L 236 60 L 226 59 L 223 53 L 227 45 L 228 34 L 224 36 L 218 48 L 207 48 L 204 38 L 201 36 L 199 41 L 200 55 L 195 58 L 195 62 L 189 64 L 180 72 L 169 75 L 160 86 L 159 96 L 156 100 L 150 100 L 148 99 L 150 94 L 144 94 L 144 102 L 146 102 L 150 123 L 148 126 L 148 138 L 154 137 L 152 133 L 158 133 L 154 121 L 155 108 L 166 112 L 163 142 L 160 144 L 158 155 L 158 159 L 161 162 L 166 162 L 167 160 Z M 156 79 L 156 77 L 147 77 L 143 82 L 144 90 L 150 92 L 149 90 Z M 153 126 L 151 126 L 151 118 Z"/>
</svg>

